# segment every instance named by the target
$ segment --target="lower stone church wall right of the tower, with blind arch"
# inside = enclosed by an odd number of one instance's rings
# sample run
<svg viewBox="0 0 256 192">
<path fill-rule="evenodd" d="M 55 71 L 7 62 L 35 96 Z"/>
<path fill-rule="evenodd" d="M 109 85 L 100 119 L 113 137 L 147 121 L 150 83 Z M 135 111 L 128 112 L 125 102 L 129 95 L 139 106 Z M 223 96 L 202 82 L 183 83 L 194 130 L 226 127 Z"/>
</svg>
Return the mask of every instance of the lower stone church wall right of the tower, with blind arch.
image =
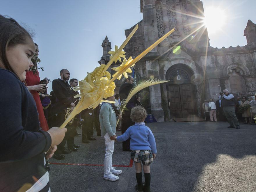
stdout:
<svg viewBox="0 0 256 192">
<path fill-rule="evenodd" d="M 200 65 L 205 65 L 205 56 L 200 57 Z M 224 89 L 235 96 L 254 95 L 256 92 L 255 63 L 251 50 L 246 46 L 210 49 L 205 74 L 205 99 L 216 100 Z"/>
</svg>

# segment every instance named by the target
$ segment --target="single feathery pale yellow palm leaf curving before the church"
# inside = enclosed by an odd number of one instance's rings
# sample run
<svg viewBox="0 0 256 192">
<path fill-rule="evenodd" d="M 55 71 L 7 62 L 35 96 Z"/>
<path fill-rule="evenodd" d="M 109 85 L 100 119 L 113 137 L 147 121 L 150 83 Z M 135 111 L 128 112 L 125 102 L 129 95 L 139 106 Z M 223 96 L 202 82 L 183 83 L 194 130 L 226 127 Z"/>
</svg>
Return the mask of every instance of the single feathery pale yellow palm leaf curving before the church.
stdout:
<svg viewBox="0 0 256 192">
<path fill-rule="evenodd" d="M 122 115 L 125 106 L 127 105 L 127 103 L 129 102 L 129 100 L 131 99 L 131 97 L 133 97 L 136 93 L 138 93 L 140 90 L 152 86 L 152 85 L 157 85 L 160 83 L 166 83 L 168 81 L 162 80 L 162 79 L 147 79 L 147 80 L 143 80 L 140 83 L 138 83 L 136 86 L 134 86 L 134 88 L 131 89 L 129 95 L 127 96 L 126 100 L 125 100 L 125 104 L 122 107 L 123 109 L 120 112 L 120 115 Z M 116 126 L 118 125 L 119 119 L 117 120 Z"/>
</svg>

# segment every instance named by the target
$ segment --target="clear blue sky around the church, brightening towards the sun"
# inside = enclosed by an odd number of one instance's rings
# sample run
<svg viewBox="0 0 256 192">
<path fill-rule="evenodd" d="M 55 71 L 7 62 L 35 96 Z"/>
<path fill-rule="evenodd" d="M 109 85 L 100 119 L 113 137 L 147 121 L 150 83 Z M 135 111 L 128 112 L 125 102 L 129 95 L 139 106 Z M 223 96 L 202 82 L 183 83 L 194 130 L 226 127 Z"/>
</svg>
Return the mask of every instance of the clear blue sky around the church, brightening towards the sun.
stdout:
<svg viewBox="0 0 256 192">
<path fill-rule="evenodd" d="M 246 45 L 243 30 L 248 19 L 256 23 L 255 0 L 203 0 L 203 5 L 205 10 L 218 6 L 227 16 L 223 31 L 209 34 L 212 47 Z M 83 79 L 99 65 L 105 36 L 114 49 L 125 40 L 124 30 L 143 19 L 139 6 L 140 0 L 8 0 L 1 2 L 0 14 L 35 31 L 41 79 L 57 79 L 62 68 L 70 78 Z"/>
</svg>

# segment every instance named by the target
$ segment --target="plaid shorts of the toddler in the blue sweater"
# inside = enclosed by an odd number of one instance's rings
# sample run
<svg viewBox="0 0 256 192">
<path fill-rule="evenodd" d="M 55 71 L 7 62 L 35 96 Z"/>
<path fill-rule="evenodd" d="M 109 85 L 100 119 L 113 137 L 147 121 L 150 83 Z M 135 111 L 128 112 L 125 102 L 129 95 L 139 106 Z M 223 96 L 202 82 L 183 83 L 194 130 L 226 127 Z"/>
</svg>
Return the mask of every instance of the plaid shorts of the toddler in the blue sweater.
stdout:
<svg viewBox="0 0 256 192">
<path fill-rule="evenodd" d="M 143 165 L 150 165 L 153 162 L 151 150 L 133 150 L 131 151 L 131 159 L 136 162 L 142 162 Z"/>
</svg>

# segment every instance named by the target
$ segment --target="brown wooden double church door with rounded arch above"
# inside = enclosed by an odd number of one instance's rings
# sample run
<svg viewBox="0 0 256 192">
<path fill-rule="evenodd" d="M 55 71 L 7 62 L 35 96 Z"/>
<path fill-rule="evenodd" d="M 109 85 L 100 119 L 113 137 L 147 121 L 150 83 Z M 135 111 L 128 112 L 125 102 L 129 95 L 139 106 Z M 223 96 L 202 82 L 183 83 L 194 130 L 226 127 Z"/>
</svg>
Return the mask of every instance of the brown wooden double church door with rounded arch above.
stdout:
<svg viewBox="0 0 256 192">
<path fill-rule="evenodd" d="M 167 100 L 172 118 L 193 117 L 197 101 L 193 71 L 184 64 L 175 64 L 166 72 Z"/>
</svg>

